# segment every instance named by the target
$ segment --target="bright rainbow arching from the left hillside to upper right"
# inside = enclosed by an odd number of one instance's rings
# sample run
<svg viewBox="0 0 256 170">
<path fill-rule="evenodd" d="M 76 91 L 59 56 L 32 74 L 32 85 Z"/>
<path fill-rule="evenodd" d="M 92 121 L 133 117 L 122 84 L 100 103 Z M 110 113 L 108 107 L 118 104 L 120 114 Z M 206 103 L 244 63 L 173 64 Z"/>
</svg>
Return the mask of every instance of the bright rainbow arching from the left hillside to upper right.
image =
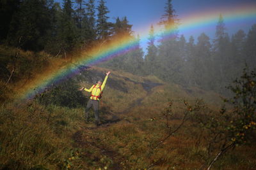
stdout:
<svg viewBox="0 0 256 170">
<path fill-rule="evenodd" d="M 231 12 L 230 12 L 231 11 Z M 202 27 L 212 27 L 218 22 L 220 13 L 223 15 L 224 22 L 243 22 L 243 20 L 256 21 L 256 6 L 247 4 L 233 9 L 219 9 L 218 11 L 202 11 L 200 13 L 193 13 L 180 20 L 180 32 L 189 32 Z M 155 22 L 157 23 L 157 22 Z M 256 23 L 255 23 L 256 24 Z M 237 25 L 239 27 L 239 25 Z M 214 27 L 215 28 L 215 27 Z M 143 29 L 140 41 L 148 41 L 148 28 Z M 145 31 L 146 30 L 146 31 Z M 164 31 L 161 27 L 155 27 L 155 33 L 161 34 L 163 39 L 168 39 L 172 34 L 173 29 Z M 118 57 L 124 53 L 130 52 L 138 48 L 138 41 L 131 41 L 129 38 L 116 38 L 110 45 L 100 45 L 98 48 L 93 48 L 90 52 L 84 52 L 84 55 L 78 57 L 73 64 L 66 64 L 66 66 L 59 66 L 50 71 L 45 71 L 42 75 L 35 78 L 28 83 L 26 87 L 19 93 L 19 99 L 32 99 L 36 94 L 41 94 L 45 89 L 51 87 L 52 84 L 60 83 L 67 78 L 74 76 L 80 72 L 81 66 L 95 66 L 100 62 Z"/>
</svg>

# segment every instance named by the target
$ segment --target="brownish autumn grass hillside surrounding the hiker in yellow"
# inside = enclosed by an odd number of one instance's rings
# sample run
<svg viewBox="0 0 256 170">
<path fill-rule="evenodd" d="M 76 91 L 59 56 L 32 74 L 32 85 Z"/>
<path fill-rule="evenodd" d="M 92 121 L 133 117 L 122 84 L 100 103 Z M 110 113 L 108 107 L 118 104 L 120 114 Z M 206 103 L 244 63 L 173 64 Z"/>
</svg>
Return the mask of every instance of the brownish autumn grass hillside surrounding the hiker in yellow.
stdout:
<svg viewBox="0 0 256 170">
<path fill-rule="evenodd" d="M 8 55 L 3 51 L 1 56 Z M 22 56 L 25 60 L 30 55 Z M 42 62 L 48 65 L 32 71 L 31 80 L 51 66 L 51 59 Z M 88 69 L 78 86 L 91 87 L 107 71 Z M 23 76 L 19 85 L 26 83 L 28 75 Z M 11 83 L 8 87 L 17 88 Z M 111 71 L 100 104 L 99 127 L 93 124 L 93 112 L 90 122 L 84 121 L 84 107 L 45 105 L 38 100 L 1 104 L 0 169 L 204 169 L 218 153 L 218 143 L 209 146 L 214 133 L 196 118 L 218 114 L 219 94 L 154 76 Z M 237 146 L 213 169 L 253 169 L 256 152 L 252 151 L 255 146 Z"/>
</svg>

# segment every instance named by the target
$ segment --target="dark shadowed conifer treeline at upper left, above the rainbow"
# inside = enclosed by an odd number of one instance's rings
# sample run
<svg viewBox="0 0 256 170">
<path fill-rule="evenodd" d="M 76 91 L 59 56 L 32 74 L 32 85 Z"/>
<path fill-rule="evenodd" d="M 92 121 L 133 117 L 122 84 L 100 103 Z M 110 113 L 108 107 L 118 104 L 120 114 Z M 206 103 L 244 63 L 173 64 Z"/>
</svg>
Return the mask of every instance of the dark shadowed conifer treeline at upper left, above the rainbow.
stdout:
<svg viewBox="0 0 256 170">
<path fill-rule="evenodd" d="M 95 0 L 63 0 L 63 6 L 54 0 L 1 1 L 0 13 L 1 43 L 34 52 L 67 54 L 114 34 L 103 0 L 98 6 Z"/>
</svg>

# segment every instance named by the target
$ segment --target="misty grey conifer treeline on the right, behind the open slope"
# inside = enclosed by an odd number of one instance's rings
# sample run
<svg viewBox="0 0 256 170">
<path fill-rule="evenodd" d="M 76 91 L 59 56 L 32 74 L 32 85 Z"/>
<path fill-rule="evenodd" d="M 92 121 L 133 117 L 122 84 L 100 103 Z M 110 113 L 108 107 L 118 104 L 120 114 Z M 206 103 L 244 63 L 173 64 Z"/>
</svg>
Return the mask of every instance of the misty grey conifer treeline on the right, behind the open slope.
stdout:
<svg viewBox="0 0 256 170">
<path fill-rule="evenodd" d="M 203 32 L 197 41 L 193 36 L 187 41 L 179 35 L 178 22 L 172 1 L 168 0 L 158 23 L 164 31 L 157 37 L 154 26 L 150 27 L 145 57 L 138 46 L 138 50 L 109 61 L 108 66 L 222 94 L 226 94 L 232 80 L 241 76 L 244 67 L 256 66 L 256 24 L 248 34 L 239 30 L 230 37 L 220 15 L 214 39 Z"/>
</svg>

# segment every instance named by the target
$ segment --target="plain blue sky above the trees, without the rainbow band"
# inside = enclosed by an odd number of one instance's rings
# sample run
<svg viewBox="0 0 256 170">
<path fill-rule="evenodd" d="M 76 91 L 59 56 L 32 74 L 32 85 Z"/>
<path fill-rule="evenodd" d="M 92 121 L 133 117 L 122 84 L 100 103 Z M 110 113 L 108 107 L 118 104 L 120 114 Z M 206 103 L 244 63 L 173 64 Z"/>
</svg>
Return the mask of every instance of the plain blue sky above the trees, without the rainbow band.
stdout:
<svg viewBox="0 0 256 170">
<path fill-rule="evenodd" d="M 61 0 L 56 0 L 61 1 Z M 99 0 L 95 0 L 97 2 Z M 135 34 L 142 34 L 148 32 L 151 24 L 156 25 L 157 21 L 160 20 L 164 13 L 164 6 L 167 0 L 105 0 L 106 6 L 110 11 L 108 13 L 109 21 L 115 22 L 116 17 L 127 17 L 129 24 L 132 25 L 132 30 Z M 256 0 L 172 0 L 172 5 L 176 11 L 177 18 L 182 22 L 182 18 L 193 15 L 194 13 L 202 13 L 204 11 L 218 11 L 219 9 L 225 9 L 226 11 L 231 10 L 233 7 L 239 8 L 243 4 L 250 4 L 255 7 L 256 11 Z M 231 12 L 231 11 L 230 11 Z M 218 22 L 219 13 L 216 13 L 216 24 Z M 225 22 L 225 16 L 224 22 Z M 214 38 L 215 25 L 211 25 L 208 29 L 193 30 L 193 32 L 182 32 L 186 40 L 189 36 L 194 36 L 196 39 L 202 32 L 205 32 L 211 39 Z M 256 16 L 250 18 L 250 20 L 242 20 L 236 22 L 236 24 L 225 23 L 227 32 L 232 35 L 239 29 L 243 29 L 248 32 L 253 24 L 256 24 Z M 143 44 L 143 43 L 142 43 Z M 145 42 L 143 45 L 145 48 Z"/>
</svg>

